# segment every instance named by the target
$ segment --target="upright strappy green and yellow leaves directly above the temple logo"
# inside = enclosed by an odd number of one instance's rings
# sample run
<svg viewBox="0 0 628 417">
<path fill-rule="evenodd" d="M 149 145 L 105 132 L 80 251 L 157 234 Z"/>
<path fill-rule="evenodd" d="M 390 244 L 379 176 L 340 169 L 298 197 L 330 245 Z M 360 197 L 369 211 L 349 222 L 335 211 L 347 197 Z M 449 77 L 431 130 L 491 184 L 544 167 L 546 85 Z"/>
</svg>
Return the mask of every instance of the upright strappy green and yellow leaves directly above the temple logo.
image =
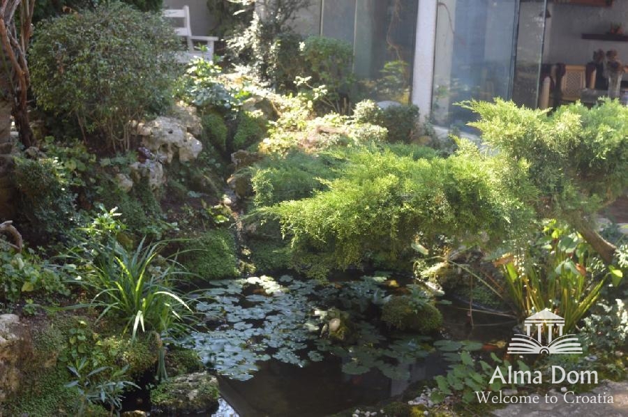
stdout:
<svg viewBox="0 0 628 417">
<path fill-rule="evenodd" d="M 595 305 L 606 283 L 605 269 L 582 236 L 555 220 L 546 222 L 537 239 L 502 266 L 520 316 L 547 308 L 565 318 L 565 332 Z"/>
</svg>

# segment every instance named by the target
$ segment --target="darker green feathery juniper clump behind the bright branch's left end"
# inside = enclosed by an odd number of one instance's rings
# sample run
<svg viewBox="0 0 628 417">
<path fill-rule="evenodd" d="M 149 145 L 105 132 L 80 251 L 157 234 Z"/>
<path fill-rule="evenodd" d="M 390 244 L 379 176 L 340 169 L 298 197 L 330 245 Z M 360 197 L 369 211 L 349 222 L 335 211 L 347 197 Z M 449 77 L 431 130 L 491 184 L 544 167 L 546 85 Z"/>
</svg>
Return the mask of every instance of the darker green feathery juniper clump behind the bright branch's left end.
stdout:
<svg viewBox="0 0 628 417">
<path fill-rule="evenodd" d="M 327 188 L 325 181 L 336 177 L 335 169 L 341 164 L 331 153 L 271 156 L 253 168 L 253 201 L 260 207 L 311 197 L 316 190 Z"/>
</svg>

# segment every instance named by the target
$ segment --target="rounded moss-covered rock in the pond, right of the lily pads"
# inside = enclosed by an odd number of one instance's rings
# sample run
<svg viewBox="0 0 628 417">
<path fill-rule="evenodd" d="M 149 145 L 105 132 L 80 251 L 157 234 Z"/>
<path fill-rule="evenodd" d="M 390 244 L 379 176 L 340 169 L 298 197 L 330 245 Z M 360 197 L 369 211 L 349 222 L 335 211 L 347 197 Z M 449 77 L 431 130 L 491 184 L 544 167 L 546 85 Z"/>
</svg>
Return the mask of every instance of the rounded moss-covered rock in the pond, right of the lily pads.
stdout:
<svg viewBox="0 0 628 417">
<path fill-rule="evenodd" d="M 382 321 L 401 331 L 430 333 L 442 326 L 442 314 L 434 305 L 417 308 L 410 296 L 394 296 L 382 308 Z"/>
</svg>

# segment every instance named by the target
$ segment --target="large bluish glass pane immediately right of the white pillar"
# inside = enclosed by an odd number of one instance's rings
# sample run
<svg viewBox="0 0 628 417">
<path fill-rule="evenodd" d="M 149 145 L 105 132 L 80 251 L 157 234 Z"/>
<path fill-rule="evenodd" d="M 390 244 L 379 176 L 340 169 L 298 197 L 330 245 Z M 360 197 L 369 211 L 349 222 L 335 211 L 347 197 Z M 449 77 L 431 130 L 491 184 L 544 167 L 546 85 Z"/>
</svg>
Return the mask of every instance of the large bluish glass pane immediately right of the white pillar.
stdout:
<svg viewBox="0 0 628 417">
<path fill-rule="evenodd" d="M 463 100 L 510 98 L 517 0 L 439 0 L 432 116 L 466 129 Z"/>
</svg>

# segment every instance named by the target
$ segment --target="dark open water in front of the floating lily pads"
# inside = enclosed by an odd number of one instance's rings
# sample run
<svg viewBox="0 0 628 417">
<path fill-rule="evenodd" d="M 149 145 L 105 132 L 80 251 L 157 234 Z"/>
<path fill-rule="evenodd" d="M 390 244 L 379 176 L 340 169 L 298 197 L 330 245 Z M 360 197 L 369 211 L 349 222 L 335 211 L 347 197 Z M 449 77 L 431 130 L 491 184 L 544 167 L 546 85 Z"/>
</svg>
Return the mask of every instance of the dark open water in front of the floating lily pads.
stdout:
<svg viewBox="0 0 628 417">
<path fill-rule="evenodd" d="M 410 366 L 410 381 L 394 381 L 378 370 L 362 375 L 341 371 L 340 358 L 299 368 L 280 361 L 260 364 L 249 381 L 220 378 L 220 393 L 241 417 L 318 417 L 364 404 L 376 404 L 401 394 L 410 382 L 439 374 L 444 363 L 437 357 Z M 230 416 L 221 411 L 216 416 Z"/>
</svg>

